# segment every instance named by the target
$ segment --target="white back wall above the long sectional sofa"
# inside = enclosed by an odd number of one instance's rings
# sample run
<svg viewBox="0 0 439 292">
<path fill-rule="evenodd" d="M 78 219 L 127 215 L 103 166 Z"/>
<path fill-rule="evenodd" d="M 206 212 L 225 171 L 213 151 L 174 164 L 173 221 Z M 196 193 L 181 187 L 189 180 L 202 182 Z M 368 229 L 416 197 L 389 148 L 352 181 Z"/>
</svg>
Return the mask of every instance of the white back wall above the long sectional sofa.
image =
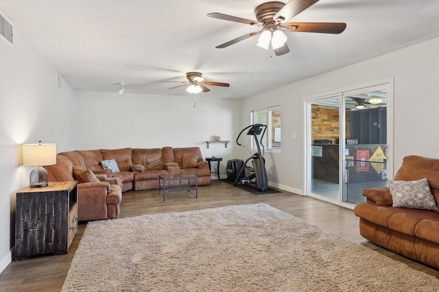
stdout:
<svg viewBox="0 0 439 292">
<path fill-rule="evenodd" d="M 194 104 L 196 103 L 195 107 Z M 198 146 L 203 158 L 235 158 L 241 101 L 123 93 L 75 92 L 75 149 L 161 148 Z M 224 144 L 204 141 L 220 135 Z"/>
</svg>

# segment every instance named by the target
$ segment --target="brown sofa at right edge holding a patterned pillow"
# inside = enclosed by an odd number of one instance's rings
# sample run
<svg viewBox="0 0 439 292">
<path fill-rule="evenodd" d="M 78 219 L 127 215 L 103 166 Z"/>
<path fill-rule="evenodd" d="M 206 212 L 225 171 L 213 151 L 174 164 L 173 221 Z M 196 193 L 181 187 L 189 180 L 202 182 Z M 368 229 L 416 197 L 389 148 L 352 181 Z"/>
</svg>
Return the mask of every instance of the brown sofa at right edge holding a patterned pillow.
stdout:
<svg viewBox="0 0 439 292">
<path fill-rule="evenodd" d="M 439 202 L 439 159 L 406 156 L 394 180 L 427 178 Z M 389 187 L 368 188 L 366 202 L 355 206 L 361 236 L 376 245 L 439 268 L 439 212 L 393 207 Z"/>
</svg>

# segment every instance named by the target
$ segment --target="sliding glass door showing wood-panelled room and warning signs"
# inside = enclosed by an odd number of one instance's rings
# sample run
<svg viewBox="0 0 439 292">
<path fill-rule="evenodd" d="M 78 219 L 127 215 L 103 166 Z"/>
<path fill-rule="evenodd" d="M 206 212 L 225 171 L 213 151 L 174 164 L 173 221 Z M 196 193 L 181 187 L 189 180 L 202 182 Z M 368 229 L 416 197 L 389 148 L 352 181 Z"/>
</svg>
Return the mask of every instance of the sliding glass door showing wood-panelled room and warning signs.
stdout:
<svg viewBox="0 0 439 292">
<path fill-rule="evenodd" d="M 358 204 L 365 188 L 386 185 L 387 86 L 308 102 L 307 195 Z"/>
</svg>

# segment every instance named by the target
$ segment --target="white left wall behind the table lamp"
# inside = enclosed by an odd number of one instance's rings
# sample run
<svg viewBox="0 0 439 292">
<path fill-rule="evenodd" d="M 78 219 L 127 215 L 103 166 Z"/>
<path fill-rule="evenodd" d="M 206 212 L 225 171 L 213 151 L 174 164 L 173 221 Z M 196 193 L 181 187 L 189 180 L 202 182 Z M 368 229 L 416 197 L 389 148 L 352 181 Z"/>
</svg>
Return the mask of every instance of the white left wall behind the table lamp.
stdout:
<svg viewBox="0 0 439 292">
<path fill-rule="evenodd" d="M 12 23 L 13 24 L 13 23 Z M 14 45 L 0 36 L 0 271 L 14 246 L 15 192 L 29 184 L 23 143 L 69 149 L 73 91 L 56 87 L 56 71 L 14 27 Z M 64 134 L 66 138 L 64 139 Z"/>
</svg>

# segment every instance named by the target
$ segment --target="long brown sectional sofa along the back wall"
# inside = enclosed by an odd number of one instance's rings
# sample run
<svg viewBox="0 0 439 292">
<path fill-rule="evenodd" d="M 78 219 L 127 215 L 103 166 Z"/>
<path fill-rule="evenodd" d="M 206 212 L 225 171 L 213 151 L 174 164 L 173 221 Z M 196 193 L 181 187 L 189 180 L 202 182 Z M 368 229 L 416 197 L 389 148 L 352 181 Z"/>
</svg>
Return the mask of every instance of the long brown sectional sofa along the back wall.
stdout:
<svg viewBox="0 0 439 292">
<path fill-rule="evenodd" d="M 187 163 L 187 158 L 191 163 Z M 117 173 L 102 167 L 102 160 L 112 159 L 119 167 Z M 78 184 L 79 221 L 119 218 L 122 192 L 158 188 L 161 173 L 189 172 L 197 175 L 198 186 L 211 184 L 211 171 L 208 162 L 203 161 L 200 147 L 75 150 L 61 152 L 56 165 L 45 169 L 49 181 L 77 180 L 74 169 L 89 170 L 96 176 L 90 182 Z"/>
</svg>

